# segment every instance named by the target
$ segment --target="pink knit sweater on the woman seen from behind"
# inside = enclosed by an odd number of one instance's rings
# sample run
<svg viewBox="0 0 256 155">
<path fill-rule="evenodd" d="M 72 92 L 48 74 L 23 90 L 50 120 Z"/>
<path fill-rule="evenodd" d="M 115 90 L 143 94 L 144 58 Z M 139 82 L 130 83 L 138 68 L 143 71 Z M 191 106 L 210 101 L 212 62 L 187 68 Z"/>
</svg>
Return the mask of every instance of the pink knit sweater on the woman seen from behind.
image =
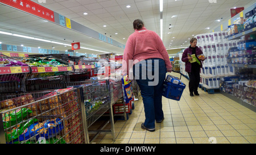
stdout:
<svg viewBox="0 0 256 155">
<path fill-rule="evenodd" d="M 159 35 L 142 27 L 140 30 L 135 30 L 126 42 L 123 52 L 123 75 L 129 74 L 127 73 L 129 60 L 133 60 L 134 65 L 148 58 L 162 58 L 166 63 L 166 68 L 172 68 L 168 53 Z"/>
</svg>

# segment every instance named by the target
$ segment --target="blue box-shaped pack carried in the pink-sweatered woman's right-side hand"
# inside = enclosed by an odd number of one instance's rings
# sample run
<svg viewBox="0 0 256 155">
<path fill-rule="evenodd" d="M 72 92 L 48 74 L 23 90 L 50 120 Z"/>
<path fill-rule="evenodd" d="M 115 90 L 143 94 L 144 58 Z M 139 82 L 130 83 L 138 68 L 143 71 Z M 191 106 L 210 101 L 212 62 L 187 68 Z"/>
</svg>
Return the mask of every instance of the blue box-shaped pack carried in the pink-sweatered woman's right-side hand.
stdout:
<svg viewBox="0 0 256 155">
<path fill-rule="evenodd" d="M 163 96 L 168 99 L 180 100 L 186 85 L 179 78 L 168 75 L 163 85 Z"/>
</svg>

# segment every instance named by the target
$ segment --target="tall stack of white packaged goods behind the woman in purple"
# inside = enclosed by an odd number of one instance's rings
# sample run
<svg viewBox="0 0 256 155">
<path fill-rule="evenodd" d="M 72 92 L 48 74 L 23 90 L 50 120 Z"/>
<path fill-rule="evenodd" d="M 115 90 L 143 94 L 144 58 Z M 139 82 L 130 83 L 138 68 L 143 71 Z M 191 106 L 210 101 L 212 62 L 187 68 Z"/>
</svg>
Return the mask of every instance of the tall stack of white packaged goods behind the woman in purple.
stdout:
<svg viewBox="0 0 256 155">
<path fill-rule="evenodd" d="M 218 88 L 220 77 L 234 75 L 234 68 L 228 66 L 228 50 L 237 47 L 237 40 L 226 41 L 226 31 L 197 35 L 197 45 L 203 51 L 205 60 L 201 68 L 200 83 L 208 88 Z"/>
</svg>

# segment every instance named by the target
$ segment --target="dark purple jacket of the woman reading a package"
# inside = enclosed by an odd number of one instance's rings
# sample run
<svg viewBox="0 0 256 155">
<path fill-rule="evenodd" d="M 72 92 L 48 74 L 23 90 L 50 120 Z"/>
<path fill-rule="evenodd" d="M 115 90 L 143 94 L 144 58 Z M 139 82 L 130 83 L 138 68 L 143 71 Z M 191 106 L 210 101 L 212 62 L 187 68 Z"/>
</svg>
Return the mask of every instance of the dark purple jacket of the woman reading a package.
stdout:
<svg viewBox="0 0 256 155">
<path fill-rule="evenodd" d="M 181 61 L 185 62 L 185 72 L 191 72 L 191 63 L 188 61 L 188 53 L 192 55 L 192 48 L 186 48 L 182 54 Z M 201 54 L 203 54 L 201 49 L 199 47 L 196 47 L 196 57 Z M 203 67 L 202 61 L 199 58 L 197 59 L 200 61 L 201 68 L 202 68 Z M 193 62 L 193 63 L 197 63 L 197 62 Z"/>
</svg>

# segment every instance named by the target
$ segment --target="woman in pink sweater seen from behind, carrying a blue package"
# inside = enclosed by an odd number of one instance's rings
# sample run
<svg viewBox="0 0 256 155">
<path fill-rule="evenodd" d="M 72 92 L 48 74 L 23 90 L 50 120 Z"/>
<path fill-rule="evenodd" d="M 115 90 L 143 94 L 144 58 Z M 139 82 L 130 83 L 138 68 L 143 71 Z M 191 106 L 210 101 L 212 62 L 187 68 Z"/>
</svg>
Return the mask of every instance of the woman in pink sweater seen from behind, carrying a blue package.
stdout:
<svg viewBox="0 0 256 155">
<path fill-rule="evenodd" d="M 164 119 L 163 82 L 166 72 L 172 72 L 172 65 L 158 34 L 147 30 L 140 19 L 134 20 L 133 27 L 135 32 L 129 36 L 123 52 L 123 76 L 134 76 L 141 89 L 146 117 L 141 127 L 155 131 L 155 120 L 161 123 Z"/>
</svg>

